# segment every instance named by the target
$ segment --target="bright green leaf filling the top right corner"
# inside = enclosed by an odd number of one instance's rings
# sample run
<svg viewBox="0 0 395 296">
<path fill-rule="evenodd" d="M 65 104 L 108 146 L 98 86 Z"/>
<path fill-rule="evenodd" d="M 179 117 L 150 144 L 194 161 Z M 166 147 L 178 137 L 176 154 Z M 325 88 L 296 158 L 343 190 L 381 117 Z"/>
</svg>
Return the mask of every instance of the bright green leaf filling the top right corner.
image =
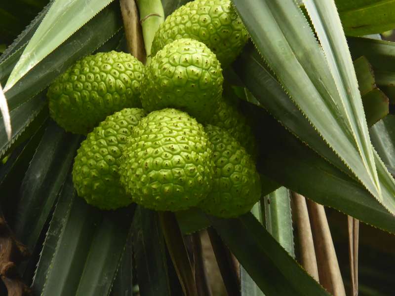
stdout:
<svg viewBox="0 0 395 296">
<path fill-rule="evenodd" d="M 348 36 L 383 33 L 395 28 L 395 0 L 335 0 Z"/>
</svg>

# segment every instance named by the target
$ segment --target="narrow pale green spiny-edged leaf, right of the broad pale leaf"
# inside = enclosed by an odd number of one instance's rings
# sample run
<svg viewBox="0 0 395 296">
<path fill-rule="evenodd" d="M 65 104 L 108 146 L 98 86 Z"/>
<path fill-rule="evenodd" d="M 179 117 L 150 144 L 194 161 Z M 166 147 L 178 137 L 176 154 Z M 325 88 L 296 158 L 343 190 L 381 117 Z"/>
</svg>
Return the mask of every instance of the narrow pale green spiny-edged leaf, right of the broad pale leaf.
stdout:
<svg viewBox="0 0 395 296">
<path fill-rule="evenodd" d="M 353 132 L 356 134 L 355 138 L 359 153 L 378 189 L 379 195 L 376 198 L 380 198 L 381 189 L 365 113 L 362 107 L 361 95 L 358 89 L 353 61 L 348 50 L 347 40 L 343 33 L 335 2 L 334 0 L 304 0 L 304 3 L 329 63 L 329 68 L 339 90 L 341 101 L 346 109 L 346 116 L 349 117 L 348 121 L 351 124 Z"/>
</svg>

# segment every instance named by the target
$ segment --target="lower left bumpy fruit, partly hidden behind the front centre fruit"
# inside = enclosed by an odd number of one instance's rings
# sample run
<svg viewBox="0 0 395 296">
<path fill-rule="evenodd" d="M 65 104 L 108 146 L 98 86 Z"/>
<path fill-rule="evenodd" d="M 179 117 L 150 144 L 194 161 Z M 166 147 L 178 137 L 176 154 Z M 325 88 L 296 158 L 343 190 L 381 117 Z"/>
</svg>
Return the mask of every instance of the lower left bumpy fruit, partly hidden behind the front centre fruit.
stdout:
<svg viewBox="0 0 395 296">
<path fill-rule="evenodd" d="M 73 183 L 88 204 L 110 210 L 132 202 L 119 183 L 119 157 L 132 128 L 146 115 L 143 109 L 123 109 L 107 116 L 81 143 L 73 166 Z"/>
</svg>

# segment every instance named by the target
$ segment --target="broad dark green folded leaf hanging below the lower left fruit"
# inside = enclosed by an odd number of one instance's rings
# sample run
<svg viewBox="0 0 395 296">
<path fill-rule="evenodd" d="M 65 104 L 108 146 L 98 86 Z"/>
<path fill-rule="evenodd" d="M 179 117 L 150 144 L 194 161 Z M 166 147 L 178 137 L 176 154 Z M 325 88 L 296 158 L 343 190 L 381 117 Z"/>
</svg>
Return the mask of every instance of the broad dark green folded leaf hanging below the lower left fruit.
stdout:
<svg viewBox="0 0 395 296">
<path fill-rule="evenodd" d="M 43 284 L 41 295 L 108 295 L 133 211 L 99 211 L 67 188 L 66 205 L 61 204 L 62 211 L 57 212 L 58 206 L 55 210 L 36 273 Z M 51 236 L 53 231 L 57 231 L 57 239 Z"/>
</svg>

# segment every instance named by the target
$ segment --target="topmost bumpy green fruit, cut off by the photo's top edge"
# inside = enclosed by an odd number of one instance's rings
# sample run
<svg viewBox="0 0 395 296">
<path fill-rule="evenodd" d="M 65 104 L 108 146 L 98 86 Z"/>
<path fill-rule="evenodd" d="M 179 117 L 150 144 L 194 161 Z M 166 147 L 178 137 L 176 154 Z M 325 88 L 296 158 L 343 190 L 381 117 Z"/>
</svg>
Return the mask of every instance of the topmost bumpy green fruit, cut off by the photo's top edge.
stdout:
<svg viewBox="0 0 395 296">
<path fill-rule="evenodd" d="M 176 9 L 160 25 L 152 44 L 152 55 L 180 38 L 204 42 L 225 68 L 240 53 L 248 33 L 230 0 L 195 0 Z"/>
</svg>

